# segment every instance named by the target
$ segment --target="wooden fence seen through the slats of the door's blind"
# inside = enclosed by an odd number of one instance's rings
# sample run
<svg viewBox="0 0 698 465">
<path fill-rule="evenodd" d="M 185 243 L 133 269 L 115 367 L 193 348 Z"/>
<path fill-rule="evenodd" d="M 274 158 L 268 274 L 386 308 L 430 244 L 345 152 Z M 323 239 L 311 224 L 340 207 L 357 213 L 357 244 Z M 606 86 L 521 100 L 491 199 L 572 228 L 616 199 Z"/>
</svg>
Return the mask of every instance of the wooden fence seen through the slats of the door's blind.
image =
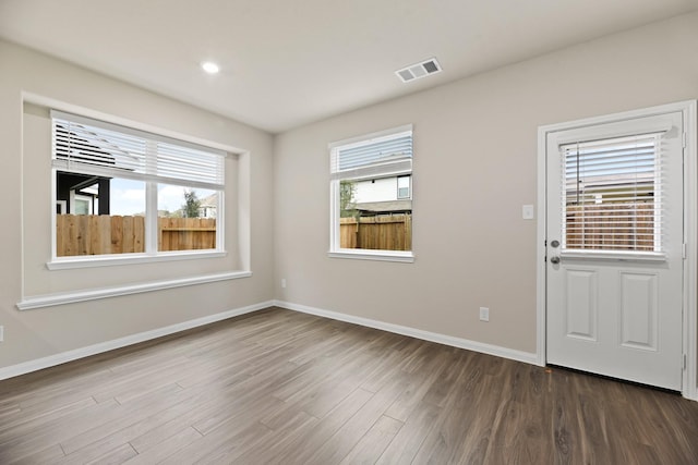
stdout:
<svg viewBox="0 0 698 465">
<path fill-rule="evenodd" d="M 567 206 L 566 235 L 568 248 L 653 250 L 654 206 L 651 203 Z"/>
</svg>

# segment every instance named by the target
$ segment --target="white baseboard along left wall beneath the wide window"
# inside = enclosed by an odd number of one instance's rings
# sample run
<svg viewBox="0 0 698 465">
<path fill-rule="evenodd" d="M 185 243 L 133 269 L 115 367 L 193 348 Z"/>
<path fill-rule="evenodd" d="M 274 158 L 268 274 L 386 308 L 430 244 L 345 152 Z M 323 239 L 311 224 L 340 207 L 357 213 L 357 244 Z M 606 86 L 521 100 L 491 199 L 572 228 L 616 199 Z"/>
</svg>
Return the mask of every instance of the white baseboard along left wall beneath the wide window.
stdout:
<svg viewBox="0 0 698 465">
<path fill-rule="evenodd" d="M 176 332 L 197 328 L 228 318 L 238 317 L 240 315 L 250 314 L 252 311 L 261 310 L 273 305 L 274 302 L 272 301 L 263 302 L 260 304 L 236 308 L 232 310 L 222 311 L 220 314 L 208 315 L 202 318 L 183 321 L 181 323 L 154 329 L 151 331 L 140 332 L 137 334 L 127 335 L 124 338 L 119 338 L 107 342 L 100 342 L 98 344 L 88 345 L 86 347 L 75 348 L 73 351 L 62 352 L 56 355 L 49 355 L 48 357 L 37 358 L 35 360 L 25 362 L 17 365 L 11 365 L 9 367 L 0 368 L 0 380 L 25 375 L 32 371 L 37 371 L 44 368 L 53 367 L 56 365 L 61 365 L 67 362 L 88 357 L 91 355 L 101 354 L 103 352 L 113 351 L 115 348 L 125 347 L 127 345 L 137 344 L 139 342 L 145 342 L 152 339 L 161 338 L 164 335 L 173 334 Z"/>
</svg>

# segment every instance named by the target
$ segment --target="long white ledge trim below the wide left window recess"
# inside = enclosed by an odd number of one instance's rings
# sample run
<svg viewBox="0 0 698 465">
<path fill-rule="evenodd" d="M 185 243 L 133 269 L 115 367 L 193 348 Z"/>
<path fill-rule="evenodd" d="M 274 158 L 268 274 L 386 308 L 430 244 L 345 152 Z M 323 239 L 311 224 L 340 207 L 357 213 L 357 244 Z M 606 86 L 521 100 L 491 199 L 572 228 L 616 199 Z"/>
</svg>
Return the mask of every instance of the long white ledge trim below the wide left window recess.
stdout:
<svg viewBox="0 0 698 465">
<path fill-rule="evenodd" d="M 207 284 L 241 278 L 250 278 L 252 271 L 229 271 L 225 273 L 202 274 L 166 281 L 152 281 L 142 284 L 128 284 L 115 287 L 91 289 L 75 292 L 64 292 L 47 295 L 36 295 L 22 298 L 16 306 L 20 310 L 53 307 L 56 305 L 74 304 L 76 302 L 96 301 L 99 298 L 118 297 L 121 295 L 140 294 L 143 292 L 161 291 L 165 289 L 183 287 L 186 285 Z"/>
</svg>

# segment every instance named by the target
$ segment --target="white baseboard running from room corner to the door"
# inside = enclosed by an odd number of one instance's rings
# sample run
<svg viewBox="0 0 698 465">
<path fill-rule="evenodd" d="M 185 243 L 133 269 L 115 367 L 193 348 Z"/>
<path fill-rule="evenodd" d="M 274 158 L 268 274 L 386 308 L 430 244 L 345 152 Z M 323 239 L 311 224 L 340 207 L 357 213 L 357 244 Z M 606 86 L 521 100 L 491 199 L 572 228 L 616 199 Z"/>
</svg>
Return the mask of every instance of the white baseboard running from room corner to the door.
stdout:
<svg viewBox="0 0 698 465">
<path fill-rule="evenodd" d="M 315 315 L 324 318 L 332 318 L 334 320 L 346 321 L 354 325 L 361 325 L 369 328 L 375 328 L 383 331 L 388 331 L 397 334 L 409 335 L 411 338 L 422 339 L 424 341 L 436 342 L 438 344 L 450 345 L 459 348 L 466 348 L 468 351 L 480 352 L 482 354 L 494 355 L 497 357 L 508 358 L 512 360 L 524 362 L 526 364 L 540 366 L 539 357 L 535 353 L 515 351 L 513 348 L 506 348 L 498 345 L 485 344 L 482 342 L 470 341 L 468 339 L 454 338 L 450 335 L 440 334 L 436 332 L 423 331 L 420 329 L 404 327 L 399 325 L 386 323 L 384 321 L 356 317 L 353 315 L 323 310 L 321 308 L 292 304 L 290 302 L 274 301 L 274 305 L 277 307 L 287 308 L 289 310 L 301 311 L 304 314 Z"/>
</svg>

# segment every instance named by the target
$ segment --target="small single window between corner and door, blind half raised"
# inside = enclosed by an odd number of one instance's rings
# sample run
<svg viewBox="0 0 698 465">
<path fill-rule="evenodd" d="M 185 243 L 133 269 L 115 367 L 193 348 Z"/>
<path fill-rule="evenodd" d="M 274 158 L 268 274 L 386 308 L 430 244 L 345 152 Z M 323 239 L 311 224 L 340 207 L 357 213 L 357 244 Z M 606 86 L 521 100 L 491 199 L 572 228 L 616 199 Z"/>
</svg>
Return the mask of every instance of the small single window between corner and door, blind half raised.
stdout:
<svg viewBox="0 0 698 465">
<path fill-rule="evenodd" d="M 330 144 L 330 256 L 412 260 L 412 126 Z"/>
</svg>

